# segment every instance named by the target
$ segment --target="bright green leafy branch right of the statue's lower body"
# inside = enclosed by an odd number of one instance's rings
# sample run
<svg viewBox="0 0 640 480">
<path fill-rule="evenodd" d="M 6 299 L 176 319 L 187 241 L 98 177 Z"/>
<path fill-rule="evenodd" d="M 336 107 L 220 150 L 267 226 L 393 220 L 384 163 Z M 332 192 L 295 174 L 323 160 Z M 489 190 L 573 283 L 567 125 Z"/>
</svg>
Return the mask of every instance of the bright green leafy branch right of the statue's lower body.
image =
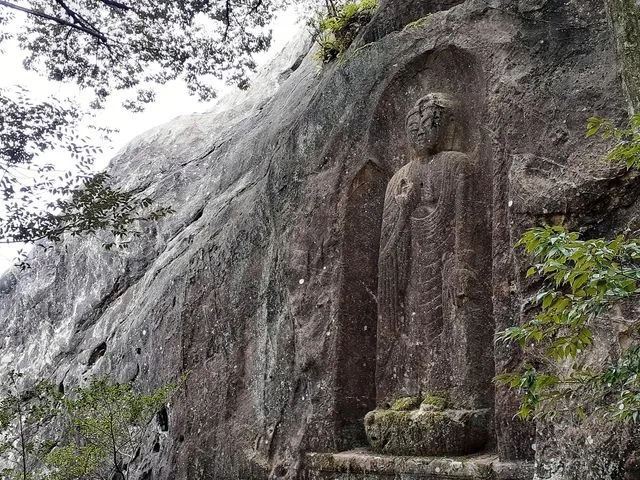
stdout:
<svg viewBox="0 0 640 480">
<path fill-rule="evenodd" d="M 550 358 L 575 357 L 591 345 L 589 325 L 606 308 L 638 292 L 640 243 L 614 240 L 580 240 L 562 227 L 541 227 L 525 232 L 516 246 L 538 261 L 527 272 L 546 282 L 531 300 L 540 307 L 533 320 L 508 328 L 500 340 L 521 345 L 553 338 Z"/>
</svg>

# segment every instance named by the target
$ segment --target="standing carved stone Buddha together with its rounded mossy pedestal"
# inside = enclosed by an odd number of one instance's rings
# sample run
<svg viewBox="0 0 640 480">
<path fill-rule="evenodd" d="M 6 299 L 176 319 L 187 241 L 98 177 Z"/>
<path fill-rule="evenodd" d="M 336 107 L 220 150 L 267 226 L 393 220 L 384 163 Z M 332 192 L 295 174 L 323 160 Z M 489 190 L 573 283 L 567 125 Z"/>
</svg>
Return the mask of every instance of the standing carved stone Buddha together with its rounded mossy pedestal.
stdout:
<svg viewBox="0 0 640 480">
<path fill-rule="evenodd" d="M 490 237 L 473 162 L 461 151 L 458 111 L 446 94 L 418 100 L 406 120 L 410 161 L 386 189 L 379 408 L 364 420 L 371 447 L 382 453 L 464 455 L 489 438 L 491 290 L 480 277 L 490 278 Z"/>
</svg>

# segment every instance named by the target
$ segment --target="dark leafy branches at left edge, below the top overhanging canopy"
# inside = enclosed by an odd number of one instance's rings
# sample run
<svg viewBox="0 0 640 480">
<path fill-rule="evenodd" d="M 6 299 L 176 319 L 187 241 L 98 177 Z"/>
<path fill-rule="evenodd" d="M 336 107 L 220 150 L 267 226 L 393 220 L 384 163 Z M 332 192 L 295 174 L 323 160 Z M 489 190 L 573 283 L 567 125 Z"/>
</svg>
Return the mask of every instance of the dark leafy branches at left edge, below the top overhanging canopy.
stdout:
<svg viewBox="0 0 640 480">
<path fill-rule="evenodd" d="M 134 222 L 169 214 L 146 198 L 114 188 L 105 173 L 91 171 L 99 149 L 74 129 L 77 106 L 34 102 L 19 89 L 17 97 L 0 89 L 0 243 L 59 241 L 64 233 L 107 231 L 107 247 L 126 245 L 137 234 Z M 107 132 L 108 134 L 109 132 Z M 59 172 L 37 161 L 50 149 L 66 150 L 75 172 Z M 22 268 L 28 266 L 21 258 Z"/>
</svg>

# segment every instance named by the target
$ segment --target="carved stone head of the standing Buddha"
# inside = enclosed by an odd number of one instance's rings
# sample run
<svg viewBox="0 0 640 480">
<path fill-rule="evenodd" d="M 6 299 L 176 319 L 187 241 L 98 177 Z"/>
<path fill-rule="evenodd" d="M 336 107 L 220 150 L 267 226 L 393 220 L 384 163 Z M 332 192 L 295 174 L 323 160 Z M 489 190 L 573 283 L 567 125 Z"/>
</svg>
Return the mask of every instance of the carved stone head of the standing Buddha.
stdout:
<svg viewBox="0 0 640 480">
<path fill-rule="evenodd" d="M 423 158 L 454 149 L 455 101 L 445 93 L 430 93 L 418 100 L 406 121 L 409 146 Z"/>
</svg>

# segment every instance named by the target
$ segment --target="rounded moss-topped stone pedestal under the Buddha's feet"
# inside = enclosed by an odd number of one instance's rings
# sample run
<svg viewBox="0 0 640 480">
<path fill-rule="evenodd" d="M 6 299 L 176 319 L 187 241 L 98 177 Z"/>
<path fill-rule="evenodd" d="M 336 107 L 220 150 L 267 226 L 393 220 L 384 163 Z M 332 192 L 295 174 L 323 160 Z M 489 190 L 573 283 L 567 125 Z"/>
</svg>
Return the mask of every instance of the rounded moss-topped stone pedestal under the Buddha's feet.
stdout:
<svg viewBox="0 0 640 480">
<path fill-rule="evenodd" d="M 489 410 L 374 410 L 364 419 L 374 452 L 390 455 L 452 456 L 482 451 Z"/>
</svg>

